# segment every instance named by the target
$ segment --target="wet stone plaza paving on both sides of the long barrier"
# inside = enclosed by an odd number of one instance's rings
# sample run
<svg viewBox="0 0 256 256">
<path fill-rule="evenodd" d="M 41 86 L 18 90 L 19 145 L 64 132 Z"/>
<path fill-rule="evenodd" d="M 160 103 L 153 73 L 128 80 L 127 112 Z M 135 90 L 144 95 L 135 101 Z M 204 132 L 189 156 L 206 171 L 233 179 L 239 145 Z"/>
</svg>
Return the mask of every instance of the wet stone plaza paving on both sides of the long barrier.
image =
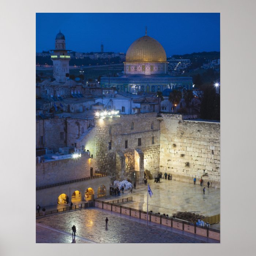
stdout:
<svg viewBox="0 0 256 256">
<path fill-rule="evenodd" d="M 193 182 L 160 179 L 148 181 L 153 196 L 148 198 L 148 211 L 161 214 L 177 211 L 195 211 L 198 214 L 212 216 L 220 213 L 220 190 L 203 187 Z M 147 211 L 147 186 L 137 185 L 136 189 L 125 191 L 118 196 L 106 196 L 102 200 L 111 201 L 117 198 L 132 196 L 132 202 L 124 206 Z M 79 204 L 80 202 L 76 202 Z M 60 206 L 47 206 L 46 211 Z M 109 218 L 105 228 L 105 218 Z M 77 235 L 72 237 L 71 227 L 76 226 Z M 219 229 L 219 223 L 212 225 Z M 152 236 L 154 234 L 154 236 Z M 218 243 L 219 241 L 189 234 L 172 227 L 163 227 L 157 223 L 147 222 L 98 208 L 87 208 L 70 211 L 36 221 L 37 243 Z"/>
</svg>

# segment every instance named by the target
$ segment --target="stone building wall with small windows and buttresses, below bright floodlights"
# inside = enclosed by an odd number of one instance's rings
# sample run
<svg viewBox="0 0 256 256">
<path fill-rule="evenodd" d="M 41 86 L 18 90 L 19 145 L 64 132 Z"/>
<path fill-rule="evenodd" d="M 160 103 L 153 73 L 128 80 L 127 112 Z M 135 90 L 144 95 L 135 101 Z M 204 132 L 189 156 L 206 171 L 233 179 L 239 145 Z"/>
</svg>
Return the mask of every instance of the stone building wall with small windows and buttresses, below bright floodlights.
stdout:
<svg viewBox="0 0 256 256">
<path fill-rule="evenodd" d="M 146 158 L 147 169 L 153 172 L 153 175 L 158 172 L 159 165 L 156 161 L 159 159 L 160 131 L 156 116 L 157 113 L 154 112 L 95 119 L 95 128 L 94 131 L 91 131 L 93 136 L 89 138 L 88 135 L 83 140 L 84 148 L 88 148 L 90 153 L 95 156 L 95 172 L 110 175 L 112 181 L 117 176 L 131 180 L 135 171 L 135 149 L 142 150 L 144 159 Z M 152 144 L 153 136 L 154 144 Z M 141 139 L 140 146 L 138 139 Z M 125 140 L 128 142 L 127 148 L 125 148 Z M 117 166 L 121 168 L 121 163 L 116 163 L 116 152 L 118 152 L 119 158 L 120 152 L 125 157 L 125 174 L 121 176 L 116 169 Z M 154 157 L 156 161 L 151 161 L 150 157 Z M 121 160 L 118 159 L 118 161 Z M 140 180 L 136 182 L 142 183 L 143 177 L 140 175 Z"/>
</svg>

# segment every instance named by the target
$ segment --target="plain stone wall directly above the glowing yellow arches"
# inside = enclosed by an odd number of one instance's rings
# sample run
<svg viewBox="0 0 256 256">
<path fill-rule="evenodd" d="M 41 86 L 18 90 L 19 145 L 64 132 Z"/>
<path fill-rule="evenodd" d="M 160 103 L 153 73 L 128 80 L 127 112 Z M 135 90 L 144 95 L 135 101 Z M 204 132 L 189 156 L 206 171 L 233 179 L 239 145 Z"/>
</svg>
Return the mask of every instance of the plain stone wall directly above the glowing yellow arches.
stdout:
<svg viewBox="0 0 256 256">
<path fill-rule="evenodd" d="M 90 177 L 90 154 L 81 157 L 52 160 L 36 165 L 36 187 Z"/>
</svg>

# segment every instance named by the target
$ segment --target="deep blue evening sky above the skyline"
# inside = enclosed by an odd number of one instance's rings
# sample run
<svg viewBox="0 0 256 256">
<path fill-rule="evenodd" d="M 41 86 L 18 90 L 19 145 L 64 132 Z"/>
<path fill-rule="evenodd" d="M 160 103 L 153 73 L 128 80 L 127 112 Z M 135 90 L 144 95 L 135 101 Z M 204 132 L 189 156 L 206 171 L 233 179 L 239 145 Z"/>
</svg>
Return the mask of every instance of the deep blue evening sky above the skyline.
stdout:
<svg viewBox="0 0 256 256">
<path fill-rule="evenodd" d="M 145 35 L 156 39 L 166 55 L 220 51 L 219 13 L 37 13 L 36 51 L 54 49 L 56 34 L 76 52 L 127 52 Z"/>
</svg>

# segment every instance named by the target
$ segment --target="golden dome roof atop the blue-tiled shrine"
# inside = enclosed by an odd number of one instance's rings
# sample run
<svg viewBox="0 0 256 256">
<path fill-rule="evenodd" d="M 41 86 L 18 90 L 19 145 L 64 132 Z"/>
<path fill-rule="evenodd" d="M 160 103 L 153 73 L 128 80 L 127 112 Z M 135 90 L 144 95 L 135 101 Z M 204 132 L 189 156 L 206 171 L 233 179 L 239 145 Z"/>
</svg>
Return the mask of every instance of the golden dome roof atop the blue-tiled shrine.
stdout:
<svg viewBox="0 0 256 256">
<path fill-rule="evenodd" d="M 165 49 L 157 40 L 144 35 L 130 45 L 125 62 L 166 62 Z"/>
</svg>

